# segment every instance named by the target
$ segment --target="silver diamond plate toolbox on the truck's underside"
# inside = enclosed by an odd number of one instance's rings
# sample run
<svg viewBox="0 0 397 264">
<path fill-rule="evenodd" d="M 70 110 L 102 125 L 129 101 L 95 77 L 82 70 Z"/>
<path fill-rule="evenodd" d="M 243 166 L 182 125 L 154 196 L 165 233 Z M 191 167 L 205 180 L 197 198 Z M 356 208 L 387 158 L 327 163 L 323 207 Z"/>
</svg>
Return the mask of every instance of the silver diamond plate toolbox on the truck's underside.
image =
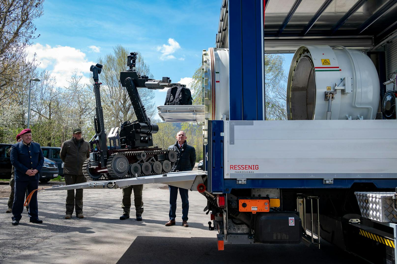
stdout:
<svg viewBox="0 0 397 264">
<path fill-rule="evenodd" d="M 354 192 L 361 216 L 384 223 L 397 223 L 396 193 Z"/>
</svg>

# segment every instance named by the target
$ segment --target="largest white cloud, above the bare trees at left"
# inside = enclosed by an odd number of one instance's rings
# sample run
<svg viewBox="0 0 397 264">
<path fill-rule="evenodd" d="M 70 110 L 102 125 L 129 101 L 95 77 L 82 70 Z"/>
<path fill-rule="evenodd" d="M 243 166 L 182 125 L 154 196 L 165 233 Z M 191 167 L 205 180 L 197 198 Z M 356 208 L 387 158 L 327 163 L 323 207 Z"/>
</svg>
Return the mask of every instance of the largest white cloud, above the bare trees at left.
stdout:
<svg viewBox="0 0 397 264">
<path fill-rule="evenodd" d="M 38 66 L 41 69 L 46 69 L 51 75 L 55 76 L 57 85 L 59 87 L 68 87 L 72 74 L 77 70 L 77 73 L 82 73 L 82 83 L 90 83 L 89 76 L 90 66 L 95 64 L 89 62 L 84 52 L 69 46 L 54 46 L 46 44 L 43 46 L 40 43 L 34 44 L 28 48 L 29 57 L 33 57 L 36 53 Z"/>
</svg>

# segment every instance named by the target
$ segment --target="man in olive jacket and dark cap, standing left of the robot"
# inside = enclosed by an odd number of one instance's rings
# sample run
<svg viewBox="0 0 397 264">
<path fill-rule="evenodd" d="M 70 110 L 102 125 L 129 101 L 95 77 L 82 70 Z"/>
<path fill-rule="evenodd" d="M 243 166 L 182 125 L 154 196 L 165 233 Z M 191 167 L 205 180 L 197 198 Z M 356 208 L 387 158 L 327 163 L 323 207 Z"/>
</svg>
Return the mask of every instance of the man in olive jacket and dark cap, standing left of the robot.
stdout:
<svg viewBox="0 0 397 264">
<path fill-rule="evenodd" d="M 90 156 L 90 145 L 81 137 L 81 129 L 73 130 L 73 138 L 62 143 L 60 157 L 64 162 L 64 176 L 66 185 L 84 183 L 83 164 Z M 83 189 L 67 190 L 66 219 L 70 219 L 75 209 L 77 218 L 83 215 Z"/>
</svg>

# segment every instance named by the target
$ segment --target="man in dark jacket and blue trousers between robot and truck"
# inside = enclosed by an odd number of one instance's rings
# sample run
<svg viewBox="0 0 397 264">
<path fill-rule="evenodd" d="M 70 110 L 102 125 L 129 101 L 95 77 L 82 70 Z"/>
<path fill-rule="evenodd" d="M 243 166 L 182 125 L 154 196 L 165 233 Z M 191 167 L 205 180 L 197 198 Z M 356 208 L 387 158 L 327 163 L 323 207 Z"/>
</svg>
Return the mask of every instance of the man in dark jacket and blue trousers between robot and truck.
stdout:
<svg viewBox="0 0 397 264">
<path fill-rule="evenodd" d="M 184 131 L 179 131 L 176 135 L 177 142 L 175 145 L 171 145 L 168 149 L 173 149 L 178 153 L 178 160 L 175 171 L 180 172 L 193 170 L 196 162 L 196 150 L 193 146 L 189 146 L 186 143 L 186 133 Z M 176 199 L 179 195 L 182 200 L 182 225 L 188 227 L 187 224 L 187 213 L 189 212 L 189 190 L 183 189 L 175 186 L 168 185 L 170 189 L 170 221 L 166 223 L 166 226 L 175 225 L 176 217 Z"/>
</svg>

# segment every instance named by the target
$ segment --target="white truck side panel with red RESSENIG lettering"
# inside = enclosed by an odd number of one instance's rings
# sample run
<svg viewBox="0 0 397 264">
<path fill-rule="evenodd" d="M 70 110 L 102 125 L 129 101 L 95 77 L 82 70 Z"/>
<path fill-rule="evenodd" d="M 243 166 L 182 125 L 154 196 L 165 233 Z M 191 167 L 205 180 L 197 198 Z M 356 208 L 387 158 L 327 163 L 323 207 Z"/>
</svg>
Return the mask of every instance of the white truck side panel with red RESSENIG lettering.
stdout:
<svg viewBox="0 0 397 264">
<path fill-rule="evenodd" d="M 226 121 L 224 131 L 225 178 L 397 178 L 396 120 Z"/>
</svg>

